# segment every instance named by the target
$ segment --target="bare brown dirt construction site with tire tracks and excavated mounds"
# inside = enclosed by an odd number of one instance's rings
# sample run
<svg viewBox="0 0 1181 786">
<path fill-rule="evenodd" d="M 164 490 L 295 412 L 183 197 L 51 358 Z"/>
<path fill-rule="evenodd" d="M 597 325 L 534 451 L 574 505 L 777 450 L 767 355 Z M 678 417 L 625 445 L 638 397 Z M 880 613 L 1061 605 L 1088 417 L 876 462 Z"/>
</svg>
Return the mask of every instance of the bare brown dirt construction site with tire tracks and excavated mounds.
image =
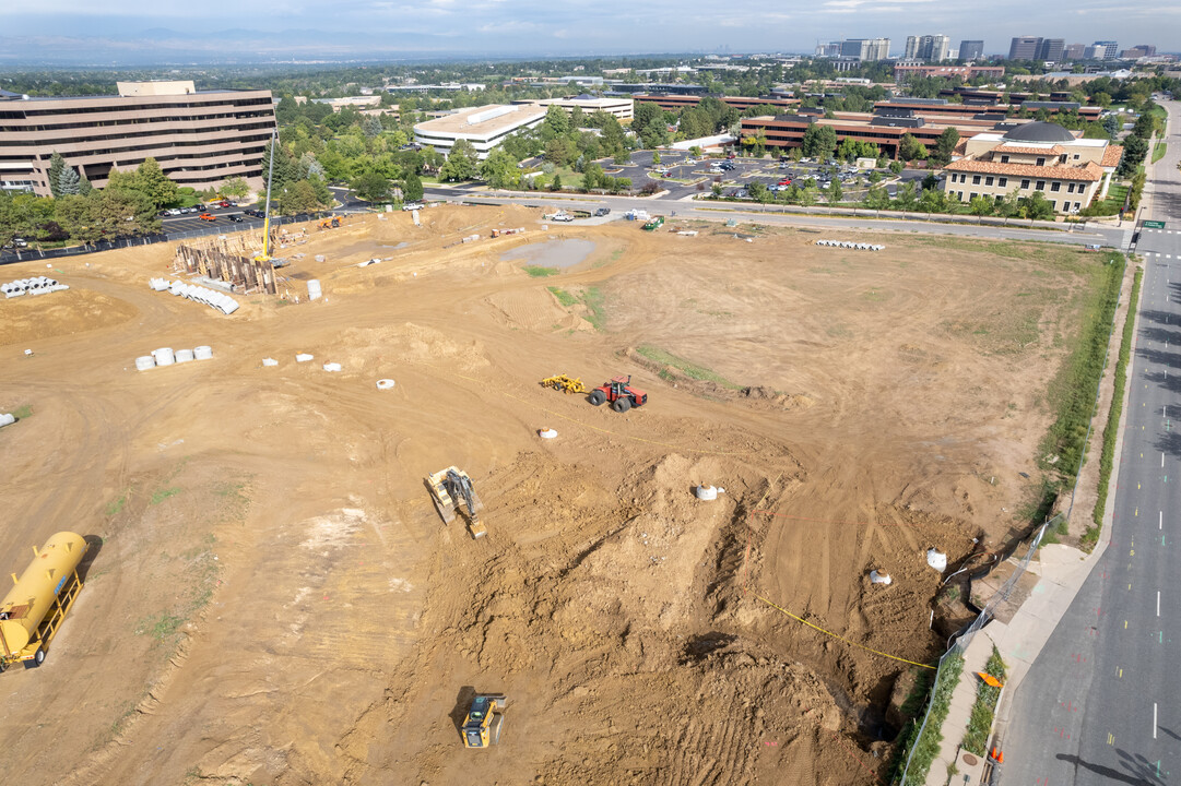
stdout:
<svg viewBox="0 0 1181 786">
<path fill-rule="evenodd" d="M 0 674 L 13 782 L 885 780 L 895 679 L 946 644 L 927 550 L 1027 524 L 1098 263 L 459 205 L 286 245 L 230 316 L 149 288 L 164 244 L 0 269 L 70 286 L 0 301 L 0 562 L 92 544 L 45 664 Z M 487 537 L 432 505 L 451 465 Z M 508 697 L 482 751 L 475 693 Z"/>
</svg>

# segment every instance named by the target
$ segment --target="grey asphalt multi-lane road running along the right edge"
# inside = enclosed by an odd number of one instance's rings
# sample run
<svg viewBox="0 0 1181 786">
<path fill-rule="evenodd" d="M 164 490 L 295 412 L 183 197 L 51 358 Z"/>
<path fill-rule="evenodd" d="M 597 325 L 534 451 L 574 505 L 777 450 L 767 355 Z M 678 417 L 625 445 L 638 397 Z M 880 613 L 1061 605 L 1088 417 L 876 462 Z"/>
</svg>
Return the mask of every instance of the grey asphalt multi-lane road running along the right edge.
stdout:
<svg viewBox="0 0 1181 786">
<path fill-rule="evenodd" d="M 1155 198 L 1144 216 L 1166 229 L 1142 231 L 1137 245 L 1144 283 L 1110 544 L 1013 696 L 1006 785 L 1181 779 L 1177 107 L 1168 106 L 1169 153 L 1150 175 Z"/>
</svg>

